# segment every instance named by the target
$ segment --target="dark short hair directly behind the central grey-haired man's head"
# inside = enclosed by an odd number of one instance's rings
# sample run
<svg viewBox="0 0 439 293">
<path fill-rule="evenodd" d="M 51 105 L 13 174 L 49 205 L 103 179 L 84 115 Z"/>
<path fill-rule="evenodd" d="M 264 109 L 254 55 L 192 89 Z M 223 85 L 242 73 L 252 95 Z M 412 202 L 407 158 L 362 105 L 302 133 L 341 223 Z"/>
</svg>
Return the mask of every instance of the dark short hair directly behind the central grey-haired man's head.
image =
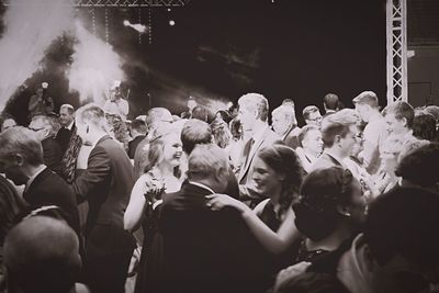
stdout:
<svg viewBox="0 0 439 293">
<path fill-rule="evenodd" d="M 212 143 L 211 126 L 204 121 L 188 120 L 181 129 L 181 143 L 185 154 L 191 154 L 195 145 Z"/>
</svg>

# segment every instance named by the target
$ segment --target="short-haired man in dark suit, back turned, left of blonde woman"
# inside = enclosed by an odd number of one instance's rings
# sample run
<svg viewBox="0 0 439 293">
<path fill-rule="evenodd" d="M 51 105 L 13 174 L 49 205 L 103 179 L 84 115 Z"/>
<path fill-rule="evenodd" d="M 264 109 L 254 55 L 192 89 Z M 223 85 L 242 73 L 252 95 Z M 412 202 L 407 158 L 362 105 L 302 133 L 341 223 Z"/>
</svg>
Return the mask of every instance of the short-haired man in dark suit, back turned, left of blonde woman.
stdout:
<svg viewBox="0 0 439 293">
<path fill-rule="evenodd" d="M 134 237 L 124 230 L 123 216 L 134 185 L 133 166 L 123 147 L 105 132 L 101 108 L 78 109 L 76 127 L 93 149 L 87 170 L 76 178 L 76 194 L 88 201 L 85 274 L 92 292 L 124 292 Z"/>
</svg>

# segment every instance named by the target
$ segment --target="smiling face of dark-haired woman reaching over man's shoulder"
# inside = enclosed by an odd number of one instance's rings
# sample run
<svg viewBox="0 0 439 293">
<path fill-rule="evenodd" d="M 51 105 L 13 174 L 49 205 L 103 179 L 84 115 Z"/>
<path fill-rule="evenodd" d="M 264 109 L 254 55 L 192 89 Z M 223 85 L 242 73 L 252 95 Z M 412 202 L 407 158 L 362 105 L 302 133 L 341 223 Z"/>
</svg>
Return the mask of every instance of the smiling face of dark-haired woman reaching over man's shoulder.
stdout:
<svg viewBox="0 0 439 293">
<path fill-rule="evenodd" d="M 255 158 L 252 180 L 258 193 L 273 198 L 282 190 L 282 176 L 268 166 L 259 156 Z"/>
</svg>

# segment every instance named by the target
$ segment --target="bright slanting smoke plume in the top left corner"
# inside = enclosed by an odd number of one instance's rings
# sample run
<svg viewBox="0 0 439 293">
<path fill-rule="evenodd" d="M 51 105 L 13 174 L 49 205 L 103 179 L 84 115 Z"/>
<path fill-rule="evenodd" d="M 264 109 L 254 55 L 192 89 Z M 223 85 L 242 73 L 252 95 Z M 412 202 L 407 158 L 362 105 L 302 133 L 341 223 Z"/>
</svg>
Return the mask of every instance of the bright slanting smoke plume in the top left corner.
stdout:
<svg viewBox="0 0 439 293">
<path fill-rule="evenodd" d="M 74 23 L 68 0 L 14 0 L 0 40 L 0 110 L 19 86 L 40 69 L 45 50 Z"/>
</svg>

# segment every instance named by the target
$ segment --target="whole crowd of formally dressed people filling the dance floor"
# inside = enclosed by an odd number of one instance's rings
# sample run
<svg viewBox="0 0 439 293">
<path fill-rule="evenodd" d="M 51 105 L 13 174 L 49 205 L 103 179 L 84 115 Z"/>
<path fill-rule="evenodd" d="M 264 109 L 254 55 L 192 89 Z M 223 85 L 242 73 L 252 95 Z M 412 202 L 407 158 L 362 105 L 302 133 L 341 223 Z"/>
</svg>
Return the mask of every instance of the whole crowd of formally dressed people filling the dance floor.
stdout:
<svg viewBox="0 0 439 293">
<path fill-rule="evenodd" d="M 439 106 L 42 97 L 0 120 L 0 292 L 438 292 Z"/>
</svg>

